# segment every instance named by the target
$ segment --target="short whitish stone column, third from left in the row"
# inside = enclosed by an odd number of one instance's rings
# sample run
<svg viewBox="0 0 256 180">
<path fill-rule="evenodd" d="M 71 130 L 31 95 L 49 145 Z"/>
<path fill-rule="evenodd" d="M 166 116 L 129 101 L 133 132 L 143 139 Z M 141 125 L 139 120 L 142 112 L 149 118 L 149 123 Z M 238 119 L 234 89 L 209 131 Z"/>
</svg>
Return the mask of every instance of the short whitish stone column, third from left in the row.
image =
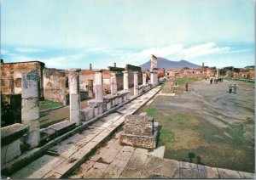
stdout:
<svg viewBox="0 0 256 180">
<path fill-rule="evenodd" d="M 96 101 L 103 101 L 103 79 L 102 70 L 97 70 L 95 74 L 95 98 Z"/>
</svg>

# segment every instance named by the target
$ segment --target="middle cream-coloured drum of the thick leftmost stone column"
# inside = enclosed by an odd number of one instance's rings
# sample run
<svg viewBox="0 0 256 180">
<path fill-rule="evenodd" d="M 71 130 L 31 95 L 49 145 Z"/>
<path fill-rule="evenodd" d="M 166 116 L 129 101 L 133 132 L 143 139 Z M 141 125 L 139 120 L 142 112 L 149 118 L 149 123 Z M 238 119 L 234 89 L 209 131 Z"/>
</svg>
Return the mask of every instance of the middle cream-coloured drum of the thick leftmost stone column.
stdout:
<svg viewBox="0 0 256 180">
<path fill-rule="evenodd" d="M 30 121 L 39 119 L 38 98 L 22 98 L 21 120 Z"/>
</svg>

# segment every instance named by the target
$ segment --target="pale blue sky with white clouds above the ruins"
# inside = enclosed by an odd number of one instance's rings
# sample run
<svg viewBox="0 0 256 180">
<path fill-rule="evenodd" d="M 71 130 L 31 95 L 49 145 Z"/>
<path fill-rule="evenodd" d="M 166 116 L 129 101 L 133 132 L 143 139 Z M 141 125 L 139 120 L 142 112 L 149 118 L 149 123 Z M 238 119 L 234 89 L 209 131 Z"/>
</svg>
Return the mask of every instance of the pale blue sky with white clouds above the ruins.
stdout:
<svg viewBox="0 0 256 180">
<path fill-rule="evenodd" d="M 1 0 L 1 58 L 49 68 L 142 65 L 150 54 L 254 65 L 255 0 Z"/>
</svg>

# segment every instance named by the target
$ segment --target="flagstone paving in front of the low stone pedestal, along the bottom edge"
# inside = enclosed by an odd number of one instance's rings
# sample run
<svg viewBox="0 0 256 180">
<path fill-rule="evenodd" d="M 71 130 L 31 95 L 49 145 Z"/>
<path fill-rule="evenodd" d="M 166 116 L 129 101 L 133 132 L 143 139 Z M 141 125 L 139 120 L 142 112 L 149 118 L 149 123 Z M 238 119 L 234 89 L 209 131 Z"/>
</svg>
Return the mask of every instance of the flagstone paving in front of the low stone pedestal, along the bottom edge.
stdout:
<svg viewBox="0 0 256 180">
<path fill-rule="evenodd" d="M 154 151 L 119 144 L 117 132 L 68 178 L 254 178 L 237 172 L 163 158 L 164 147 Z"/>
</svg>

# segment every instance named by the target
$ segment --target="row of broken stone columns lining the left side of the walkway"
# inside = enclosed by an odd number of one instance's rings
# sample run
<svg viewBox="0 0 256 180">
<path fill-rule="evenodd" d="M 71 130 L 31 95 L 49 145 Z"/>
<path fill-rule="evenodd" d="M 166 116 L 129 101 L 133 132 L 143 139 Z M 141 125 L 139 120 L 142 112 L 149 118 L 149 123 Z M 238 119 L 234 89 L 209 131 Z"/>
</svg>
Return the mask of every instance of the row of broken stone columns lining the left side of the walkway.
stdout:
<svg viewBox="0 0 256 180">
<path fill-rule="evenodd" d="M 81 124 L 80 116 L 80 91 L 79 91 L 79 71 L 80 69 L 69 70 L 69 100 L 70 100 L 70 121 L 75 122 L 76 126 Z M 124 73 L 124 90 L 129 91 L 128 71 Z M 134 73 L 134 95 L 139 95 L 138 91 L 138 72 Z M 156 76 L 155 76 L 156 75 Z M 103 83 L 102 70 L 96 71 L 96 102 L 103 102 Z M 151 73 L 152 84 L 157 83 L 157 73 Z M 143 85 L 146 85 L 146 75 L 143 74 Z M 29 132 L 26 135 L 26 144 L 29 148 L 37 147 L 40 142 L 40 126 L 39 126 L 39 100 L 38 100 L 38 75 L 35 72 L 23 74 L 22 78 L 22 114 L 21 120 L 23 124 L 29 126 Z M 92 86 L 92 85 L 90 85 Z M 92 88 L 92 87 L 91 87 Z M 113 73 L 111 77 L 111 95 L 118 95 L 117 80 Z"/>
</svg>

